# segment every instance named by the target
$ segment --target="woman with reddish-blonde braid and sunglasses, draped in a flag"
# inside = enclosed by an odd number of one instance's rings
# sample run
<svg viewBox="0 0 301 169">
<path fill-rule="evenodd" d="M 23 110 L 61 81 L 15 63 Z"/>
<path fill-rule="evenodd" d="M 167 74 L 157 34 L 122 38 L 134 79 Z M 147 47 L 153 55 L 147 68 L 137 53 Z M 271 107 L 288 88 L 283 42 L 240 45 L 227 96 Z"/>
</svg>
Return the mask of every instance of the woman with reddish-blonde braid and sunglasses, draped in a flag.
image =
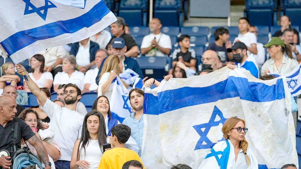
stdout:
<svg viewBox="0 0 301 169">
<path fill-rule="evenodd" d="M 258 162 L 245 138 L 248 131 L 245 124 L 245 120 L 237 117 L 227 119 L 222 128 L 225 141 L 219 141 L 213 146 L 199 169 L 258 169 Z"/>
</svg>

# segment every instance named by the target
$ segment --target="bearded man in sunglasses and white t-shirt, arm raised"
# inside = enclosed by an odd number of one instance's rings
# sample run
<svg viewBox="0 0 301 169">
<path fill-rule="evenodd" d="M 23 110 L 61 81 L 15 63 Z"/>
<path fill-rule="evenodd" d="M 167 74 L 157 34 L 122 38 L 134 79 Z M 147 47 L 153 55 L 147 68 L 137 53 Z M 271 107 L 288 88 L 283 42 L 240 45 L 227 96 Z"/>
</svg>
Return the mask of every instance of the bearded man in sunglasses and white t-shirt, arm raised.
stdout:
<svg viewBox="0 0 301 169">
<path fill-rule="evenodd" d="M 70 168 L 71 154 L 74 142 L 81 138 L 81 129 L 84 116 L 76 111 L 77 102 L 81 99 L 81 90 L 74 84 L 68 83 L 64 86 L 65 107 L 50 101 L 45 96 L 35 82 L 30 78 L 26 69 L 20 65 L 15 65 L 17 72 L 25 73 L 28 88 L 36 96 L 41 104 L 41 108 L 46 112 L 51 120 L 50 128 L 55 131 L 55 141 L 61 147 L 62 157 L 55 162 L 56 168 Z"/>
</svg>

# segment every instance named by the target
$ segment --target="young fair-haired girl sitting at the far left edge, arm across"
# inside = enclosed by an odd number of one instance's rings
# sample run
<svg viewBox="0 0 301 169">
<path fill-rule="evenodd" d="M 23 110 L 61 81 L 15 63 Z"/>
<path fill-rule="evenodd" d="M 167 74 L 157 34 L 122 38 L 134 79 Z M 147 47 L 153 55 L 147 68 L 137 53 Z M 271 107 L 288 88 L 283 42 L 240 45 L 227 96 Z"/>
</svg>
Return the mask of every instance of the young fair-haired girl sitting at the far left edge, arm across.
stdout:
<svg viewBox="0 0 301 169">
<path fill-rule="evenodd" d="M 11 85 L 17 87 L 17 83 L 20 82 L 20 77 L 15 75 L 15 67 L 13 63 L 7 62 L 2 65 L 3 76 L 0 77 L 0 89 L 5 86 Z"/>
</svg>

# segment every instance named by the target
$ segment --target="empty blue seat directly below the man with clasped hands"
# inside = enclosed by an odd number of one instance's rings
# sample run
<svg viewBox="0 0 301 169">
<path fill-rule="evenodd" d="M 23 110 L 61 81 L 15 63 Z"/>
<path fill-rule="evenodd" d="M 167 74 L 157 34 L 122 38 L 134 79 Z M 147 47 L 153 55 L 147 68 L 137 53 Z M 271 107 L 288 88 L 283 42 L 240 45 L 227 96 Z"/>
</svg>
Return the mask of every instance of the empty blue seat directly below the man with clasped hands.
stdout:
<svg viewBox="0 0 301 169">
<path fill-rule="evenodd" d="M 163 79 L 166 75 L 165 66 L 168 63 L 169 57 L 137 57 L 138 62 L 143 75 L 149 78 Z"/>
</svg>

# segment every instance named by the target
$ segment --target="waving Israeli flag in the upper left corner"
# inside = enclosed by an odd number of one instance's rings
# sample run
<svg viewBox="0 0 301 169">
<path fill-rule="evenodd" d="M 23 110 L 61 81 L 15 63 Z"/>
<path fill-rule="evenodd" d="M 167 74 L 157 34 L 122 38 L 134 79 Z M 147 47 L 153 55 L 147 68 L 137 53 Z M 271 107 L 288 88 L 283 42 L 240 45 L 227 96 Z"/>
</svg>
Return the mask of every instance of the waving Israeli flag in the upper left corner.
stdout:
<svg viewBox="0 0 301 169">
<path fill-rule="evenodd" d="M 89 0 L 84 9 L 63 2 L 67 1 L 0 0 L 0 44 L 14 63 L 86 39 L 117 20 L 104 0 Z"/>
</svg>

